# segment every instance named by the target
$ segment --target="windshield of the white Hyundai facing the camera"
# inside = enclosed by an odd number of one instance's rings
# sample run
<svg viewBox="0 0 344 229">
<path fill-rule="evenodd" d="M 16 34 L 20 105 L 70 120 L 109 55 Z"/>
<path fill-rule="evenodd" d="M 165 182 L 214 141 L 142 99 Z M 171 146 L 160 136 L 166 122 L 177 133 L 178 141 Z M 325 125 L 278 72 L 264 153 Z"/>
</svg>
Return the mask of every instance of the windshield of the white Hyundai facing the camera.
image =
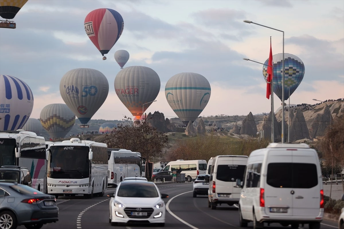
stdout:
<svg viewBox="0 0 344 229">
<path fill-rule="evenodd" d="M 121 183 L 117 193 L 119 197 L 154 198 L 159 197 L 157 188 L 152 183 Z"/>
</svg>

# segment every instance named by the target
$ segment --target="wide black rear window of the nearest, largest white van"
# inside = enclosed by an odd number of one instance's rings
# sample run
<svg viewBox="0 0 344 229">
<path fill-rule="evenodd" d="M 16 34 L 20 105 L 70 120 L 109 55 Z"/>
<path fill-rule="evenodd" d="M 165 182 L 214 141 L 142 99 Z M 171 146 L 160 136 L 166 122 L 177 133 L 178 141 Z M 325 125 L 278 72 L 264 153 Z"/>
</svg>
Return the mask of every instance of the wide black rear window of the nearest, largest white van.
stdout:
<svg viewBox="0 0 344 229">
<path fill-rule="evenodd" d="M 312 188 L 318 185 L 318 171 L 311 163 L 269 163 L 266 180 L 275 188 Z"/>
</svg>

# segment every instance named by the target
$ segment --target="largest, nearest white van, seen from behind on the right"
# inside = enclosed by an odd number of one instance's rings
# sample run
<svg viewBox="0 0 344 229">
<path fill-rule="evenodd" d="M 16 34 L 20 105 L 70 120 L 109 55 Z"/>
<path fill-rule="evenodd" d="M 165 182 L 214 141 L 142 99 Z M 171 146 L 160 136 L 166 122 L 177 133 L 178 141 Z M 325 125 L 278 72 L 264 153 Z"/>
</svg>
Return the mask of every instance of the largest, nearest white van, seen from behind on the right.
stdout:
<svg viewBox="0 0 344 229">
<path fill-rule="evenodd" d="M 253 221 L 319 229 L 324 214 L 324 192 L 318 154 L 307 144 L 271 143 L 251 152 L 239 202 L 241 227 Z"/>
</svg>

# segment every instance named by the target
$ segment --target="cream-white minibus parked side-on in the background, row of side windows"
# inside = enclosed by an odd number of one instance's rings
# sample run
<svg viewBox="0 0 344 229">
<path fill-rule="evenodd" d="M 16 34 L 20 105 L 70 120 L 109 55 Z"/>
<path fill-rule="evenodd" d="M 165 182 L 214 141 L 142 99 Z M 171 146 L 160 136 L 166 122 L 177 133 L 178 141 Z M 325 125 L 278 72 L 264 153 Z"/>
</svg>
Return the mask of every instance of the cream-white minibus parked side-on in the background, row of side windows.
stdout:
<svg viewBox="0 0 344 229">
<path fill-rule="evenodd" d="M 163 171 L 177 171 L 181 168 L 182 172 L 185 173 L 186 181 L 191 182 L 196 179 L 197 175 L 206 174 L 207 172 L 207 161 L 206 160 L 176 160 L 170 161 L 166 164 Z"/>
</svg>

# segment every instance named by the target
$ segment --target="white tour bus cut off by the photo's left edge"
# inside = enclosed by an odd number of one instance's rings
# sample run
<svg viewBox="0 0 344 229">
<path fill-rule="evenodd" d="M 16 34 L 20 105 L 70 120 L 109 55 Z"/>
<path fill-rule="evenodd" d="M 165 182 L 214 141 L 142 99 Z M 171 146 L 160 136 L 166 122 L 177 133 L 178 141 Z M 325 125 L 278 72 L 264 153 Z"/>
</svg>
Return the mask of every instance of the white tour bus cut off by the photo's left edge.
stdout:
<svg viewBox="0 0 344 229">
<path fill-rule="evenodd" d="M 0 167 L 17 165 L 30 171 L 32 187 L 46 193 L 45 139 L 22 129 L 0 131 Z"/>
</svg>

